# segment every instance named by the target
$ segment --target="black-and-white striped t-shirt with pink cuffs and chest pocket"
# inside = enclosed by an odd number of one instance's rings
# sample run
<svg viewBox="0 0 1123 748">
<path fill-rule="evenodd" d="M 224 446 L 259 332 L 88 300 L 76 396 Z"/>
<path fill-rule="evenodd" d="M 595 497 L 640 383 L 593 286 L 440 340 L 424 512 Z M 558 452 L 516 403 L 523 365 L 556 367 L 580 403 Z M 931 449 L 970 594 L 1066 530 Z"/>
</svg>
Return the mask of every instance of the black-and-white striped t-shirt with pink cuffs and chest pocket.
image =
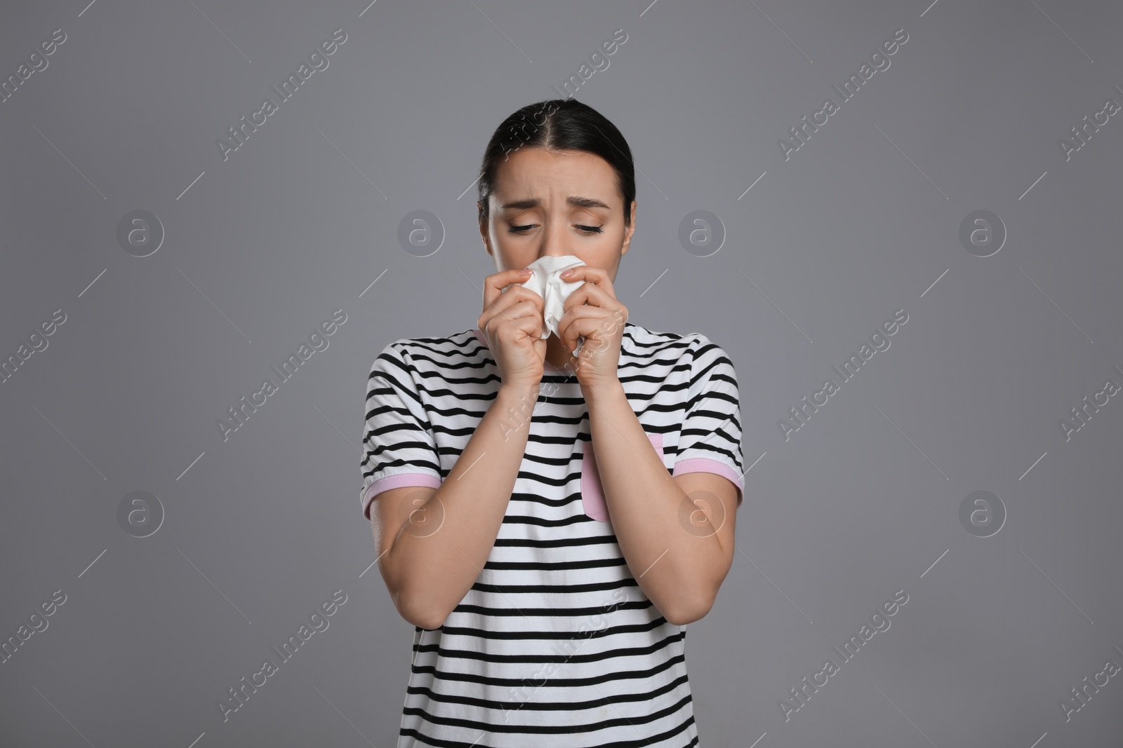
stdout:
<svg viewBox="0 0 1123 748">
<path fill-rule="evenodd" d="M 705 335 L 624 323 L 618 378 L 678 475 L 743 492 L 737 376 Z M 438 488 L 500 387 L 480 330 L 386 345 L 367 380 L 360 504 Z M 483 572 L 437 629 L 414 627 L 398 748 L 696 746 L 686 627 L 640 590 L 608 517 L 576 376 L 548 361 Z"/>
</svg>

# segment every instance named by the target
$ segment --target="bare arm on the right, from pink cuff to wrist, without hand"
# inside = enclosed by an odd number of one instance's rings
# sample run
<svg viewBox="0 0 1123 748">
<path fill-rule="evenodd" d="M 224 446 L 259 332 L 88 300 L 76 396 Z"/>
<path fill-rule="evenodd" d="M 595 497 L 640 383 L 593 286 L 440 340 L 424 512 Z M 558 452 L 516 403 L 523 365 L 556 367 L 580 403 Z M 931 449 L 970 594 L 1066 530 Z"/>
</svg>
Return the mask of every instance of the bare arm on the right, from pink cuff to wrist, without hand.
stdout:
<svg viewBox="0 0 1123 748">
<path fill-rule="evenodd" d="M 629 569 L 668 621 L 702 618 L 733 562 L 737 487 L 715 473 L 672 477 L 619 380 L 582 390 L 604 502 Z M 691 500 L 702 491 L 721 506 Z"/>
</svg>

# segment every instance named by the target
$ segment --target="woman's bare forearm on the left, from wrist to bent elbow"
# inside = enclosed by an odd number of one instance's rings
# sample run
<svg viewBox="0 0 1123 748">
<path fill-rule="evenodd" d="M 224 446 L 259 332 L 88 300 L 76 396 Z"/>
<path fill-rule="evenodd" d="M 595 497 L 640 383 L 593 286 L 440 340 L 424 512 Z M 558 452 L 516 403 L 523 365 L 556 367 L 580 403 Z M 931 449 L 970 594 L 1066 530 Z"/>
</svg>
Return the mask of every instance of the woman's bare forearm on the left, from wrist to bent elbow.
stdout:
<svg viewBox="0 0 1123 748">
<path fill-rule="evenodd" d="M 539 386 L 503 385 L 440 488 L 418 510 L 435 532 L 405 523 L 387 560 L 412 610 L 439 628 L 483 571 L 527 451 Z"/>
</svg>

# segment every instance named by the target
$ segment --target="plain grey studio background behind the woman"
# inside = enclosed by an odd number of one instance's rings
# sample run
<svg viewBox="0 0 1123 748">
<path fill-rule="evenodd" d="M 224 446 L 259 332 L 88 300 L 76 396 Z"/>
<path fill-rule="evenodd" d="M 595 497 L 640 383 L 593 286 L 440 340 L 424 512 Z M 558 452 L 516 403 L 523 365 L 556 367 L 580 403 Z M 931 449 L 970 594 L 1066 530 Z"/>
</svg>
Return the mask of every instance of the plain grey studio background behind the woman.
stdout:
<svg viewBox="0 0 1123 748">
<path fill-rule="evenodd" d="M 1058 0 L 7 7 L 0 76 L 67 39 L 0 103 L 0 354 L 66 322 L 0 385 L 0 635 L 67 597 L 0 665 L 0 742 L 394 745 L 412 626 L 359 512 L 366 376 L 393 340 L 474 326 L 487 138 L 623 28 L 576 93 L 638 169 L 617 293 L 729 351 L 754 465 L 688 627 L 701 745 L 1120 745 L 1123 678 L 1069 721 L 1059 700 L 1123 664 L 1123 405 L 1070 441 L 1059 421 L 1123 384 L 1123 122 L 1067 161 L 1058 139 L 1123 103 L 1121 21 Z M 223 161 L 216 139 L 336 28 L 329 67 Z M 785 160 L 778 138 L 898 28 L 891 67 Z M 166 231 L 145 258 L 116 239 L 134 210 Z M 398 241 L 414 210 L 446 232 L 429 257 Z M 677 239 L 695 210 L 723 224 L 710 257 Z M 959 242 L 976 210 L 1008 231 L 990 257 Z M 223 441 L 337 308 L 329 348 Z M 777 421 L 901 308 L 785 441 Z M 137 490 L 166 512 L 146 538 L 117 518 Z M 959 521 L 977 490 L 1007 511 L 990 537 Z M 338 589 L 223 722 L 217 700 Z M 785 721 L 896 590 L 892 627 Z"/>
</svg>

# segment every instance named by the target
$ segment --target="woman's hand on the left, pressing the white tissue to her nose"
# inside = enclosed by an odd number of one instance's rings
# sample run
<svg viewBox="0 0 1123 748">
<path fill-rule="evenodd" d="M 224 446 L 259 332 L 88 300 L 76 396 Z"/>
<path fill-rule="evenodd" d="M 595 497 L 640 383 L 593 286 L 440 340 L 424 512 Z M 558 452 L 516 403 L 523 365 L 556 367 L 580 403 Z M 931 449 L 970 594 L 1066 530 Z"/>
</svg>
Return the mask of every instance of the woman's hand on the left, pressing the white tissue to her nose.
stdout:
<svg viewBox="0 0 1123 748">
<path fill-rule="evenodd" d="M 476 326 L 487 339 L 503 387 L 537 387 L 545 372 L 544 301 L 521 285 L 530 278 L 521 268 L 484 278 L 484 311 Z"/>
</svg>

